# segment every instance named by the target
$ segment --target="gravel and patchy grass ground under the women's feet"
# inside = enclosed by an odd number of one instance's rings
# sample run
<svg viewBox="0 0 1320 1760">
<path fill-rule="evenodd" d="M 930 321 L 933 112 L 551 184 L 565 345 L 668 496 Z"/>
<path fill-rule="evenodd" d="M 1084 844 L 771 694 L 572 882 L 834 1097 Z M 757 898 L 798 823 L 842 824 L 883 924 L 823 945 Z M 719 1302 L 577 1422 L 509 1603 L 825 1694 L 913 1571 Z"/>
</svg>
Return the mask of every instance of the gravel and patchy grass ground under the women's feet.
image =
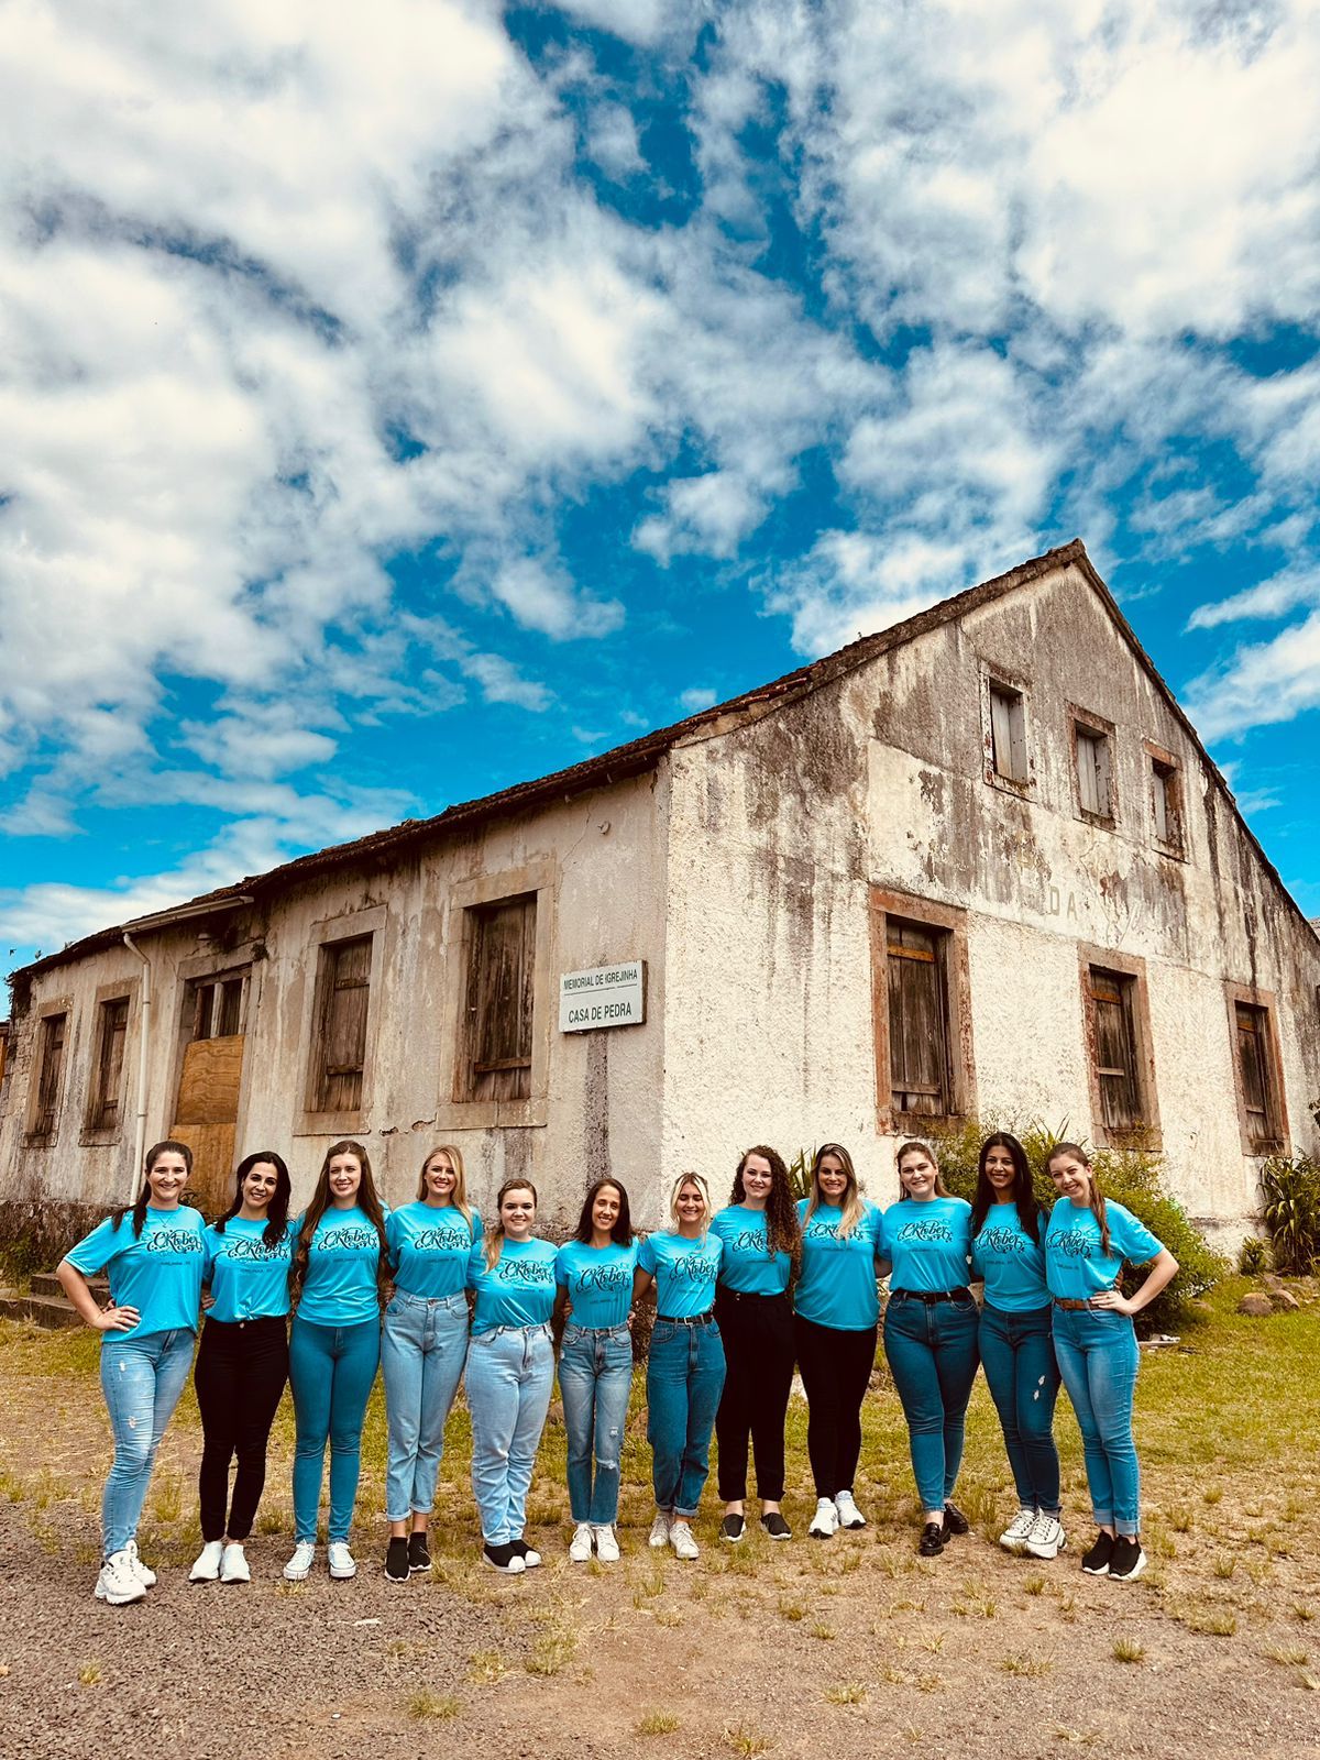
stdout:
<svg viewBox="0 0 1320 1760">
<path fill-rule="evenodd" d="M 1313 1346 L 1299 1343 L 1315 1368 Z M 160 1586 L 109 1609 L 92 1600 L 106 1426 L 69 1352 L 0 1329 L 0 1760 L 1320 1756 L 1313 1459 L 1287 1473 L 1253 1468 L 1246 1447 L 1156 1461 L 1151 1568 L 1121 1586 L 1081 1573 L 1089 1524 L 1068 1445 L 1075 1551 L 1052 1565 L 994 1545 L 1012 1498 L 989 1447 L 963 1494 L 973 1533 L 919 1559 L 885 1417 L 859 1482 L 864 1533 L 808 1540 L 799 1478 L 790 1544 L 757 1531 L 722 1547 L 708 1494 L 702 1556 L 683 1565 L 648 1549 L 639 1489 L 623 1561 L 574 1566 L 547 1438 L 532 1505 L 546 1563 L 524 1579 L 480 1565 L 470 1492 L 449 1482 L 431 1579 L 387 1584 L 382 1536 L 364 1531 L 354 1582 L 285 1584 L 287 1531 L 259 1531 L 252 1586 L 220 1588 L 187 1582 L 199 1434 L 181 1410 L 143 1529 Z M 993 1424 L 984 1403 L 972 1422 Z M 1176 1454 L 1160 1434 L 1151 1452 Z M 278 1459 L 266 1529 L 287 1529 L 283 1491 Z"/>
</svg>

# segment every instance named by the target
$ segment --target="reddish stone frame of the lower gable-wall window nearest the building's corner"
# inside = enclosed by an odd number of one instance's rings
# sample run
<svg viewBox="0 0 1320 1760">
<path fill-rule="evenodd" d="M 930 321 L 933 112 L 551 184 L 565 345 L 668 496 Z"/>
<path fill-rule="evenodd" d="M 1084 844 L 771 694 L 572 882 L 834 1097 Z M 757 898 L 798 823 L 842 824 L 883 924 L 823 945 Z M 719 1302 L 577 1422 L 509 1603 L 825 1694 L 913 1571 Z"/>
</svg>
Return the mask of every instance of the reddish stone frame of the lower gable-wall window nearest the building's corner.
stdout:
<svg viewBox="0 0 1320 1760">
<path fill-rule="evenodd" d="M 972 984 L 966 943 L 966 912 L 950 905 L 871 887 L 871 1033 L 875 1040 L 875 1116 L 876 1133 L 894 1137 L 922 1135 L 940 1125 L 968 1118 L 977 1107 L 977 1079 L 972 1052 Z M 949 1107 L 938 1114 L 908 1112 L 894 1105 L 892 1031 L 889 1014 L 889 922 L 908 924 L 942 936 L 942 1005 L 945 1026 L 945 1068 Z"/>
</svg>

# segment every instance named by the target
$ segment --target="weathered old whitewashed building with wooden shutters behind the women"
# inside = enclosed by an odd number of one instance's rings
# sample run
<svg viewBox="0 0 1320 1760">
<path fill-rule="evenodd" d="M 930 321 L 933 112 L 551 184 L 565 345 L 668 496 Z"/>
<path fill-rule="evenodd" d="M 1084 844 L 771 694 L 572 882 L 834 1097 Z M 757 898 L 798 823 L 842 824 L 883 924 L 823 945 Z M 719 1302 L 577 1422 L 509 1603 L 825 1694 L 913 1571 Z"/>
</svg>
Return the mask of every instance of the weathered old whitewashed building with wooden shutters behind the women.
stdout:
<svg viewBox="0 0 1320 1760">
<path fill-rule="evenodd" d="M 887 1202 L 896 1135 L 994 1111 L 1160 1146 L 1228 1237 L 1316 1146 L 1320 940 L 1081 544 L 12 984 L 11 1199 L 123 1200 L 165 1133 L 206 1206 L 255 1148 L 304 1197 L 352 1135 L 392 1200 L 456 1142 L 482 1204 L 612 1169 L 653 1225 L 759 1140 Z"/>
</svg>

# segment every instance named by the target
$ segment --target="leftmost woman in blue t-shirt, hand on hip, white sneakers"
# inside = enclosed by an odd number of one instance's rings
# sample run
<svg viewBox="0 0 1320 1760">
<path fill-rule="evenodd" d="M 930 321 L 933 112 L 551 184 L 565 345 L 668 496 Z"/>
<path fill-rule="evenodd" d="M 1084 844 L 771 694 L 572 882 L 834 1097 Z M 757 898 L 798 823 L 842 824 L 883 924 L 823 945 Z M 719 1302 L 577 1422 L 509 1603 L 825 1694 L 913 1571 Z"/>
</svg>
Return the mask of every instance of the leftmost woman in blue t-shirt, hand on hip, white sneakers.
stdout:
<svg viewBox="0 0 1320 1760">
<path fill-rule="evenodd" d="M 181 1204 L 192 1172 L 187 1142 L 146 1151 L 146 1177 L 132 1207 L 107 1216 L 56 1267 L 63 1292 L 100 1338 L 100 1389 L 114 1431 L 114 1463 L 100 1505 L 102 1566 L 97 1600 L 141 1602 L 157 1580 L 137 1556 L 137 1522 L 151 1466 L 188 1380 L 202 1294 L 202 1218 Z M 88 1278 L 109 1272 L 109 1308 Z"/>
</svg>

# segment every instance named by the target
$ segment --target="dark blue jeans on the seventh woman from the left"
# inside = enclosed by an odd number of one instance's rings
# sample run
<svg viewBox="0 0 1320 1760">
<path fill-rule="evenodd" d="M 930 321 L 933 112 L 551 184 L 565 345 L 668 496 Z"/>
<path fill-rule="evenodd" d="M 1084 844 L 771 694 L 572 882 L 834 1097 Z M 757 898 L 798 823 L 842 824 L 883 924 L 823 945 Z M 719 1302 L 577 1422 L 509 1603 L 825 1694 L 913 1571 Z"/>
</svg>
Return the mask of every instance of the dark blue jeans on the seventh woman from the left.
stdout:
<svg viewBox="0 0 1320 1760">
<path fill-rule="evenodd" d="M 711 1470 L 711 1431 L 723 1392 L 723 1339 L 715 1320 L 656 1320 L 646 1360 L 646 1440 L 656 1508 L 695 1515 Z"/>
</svg>

